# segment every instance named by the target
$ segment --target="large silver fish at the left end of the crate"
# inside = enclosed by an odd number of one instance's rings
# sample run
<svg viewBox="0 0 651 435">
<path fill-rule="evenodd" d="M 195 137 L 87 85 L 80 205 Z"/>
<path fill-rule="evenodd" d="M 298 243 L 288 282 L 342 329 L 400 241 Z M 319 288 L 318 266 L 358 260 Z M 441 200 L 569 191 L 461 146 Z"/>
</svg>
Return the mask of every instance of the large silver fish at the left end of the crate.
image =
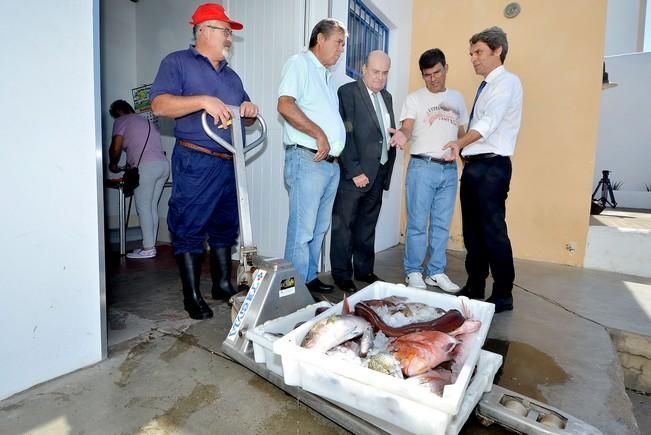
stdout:
<svg viewBox="0 0 651 435">
<path fill-rule="evenodd" d="M 351 314 L 334 315 L 317 322 L 305 335 L 301 346 L 326 352 L 373 329 L 364 318 Z"/>
</svg>

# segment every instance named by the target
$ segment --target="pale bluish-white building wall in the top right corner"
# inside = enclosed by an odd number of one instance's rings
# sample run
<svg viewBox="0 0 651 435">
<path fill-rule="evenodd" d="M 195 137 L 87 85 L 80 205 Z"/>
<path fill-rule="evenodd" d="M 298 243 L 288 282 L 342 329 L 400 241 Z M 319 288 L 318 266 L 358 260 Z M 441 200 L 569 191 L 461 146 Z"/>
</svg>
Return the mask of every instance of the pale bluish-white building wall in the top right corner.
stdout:
<svg viewBox="0 0 651 435">
<path fill-rule="evenodd" d="M 647 0 L 608 0 L 604 54 L 635 53 L 644 44 Z"/>
</svg>

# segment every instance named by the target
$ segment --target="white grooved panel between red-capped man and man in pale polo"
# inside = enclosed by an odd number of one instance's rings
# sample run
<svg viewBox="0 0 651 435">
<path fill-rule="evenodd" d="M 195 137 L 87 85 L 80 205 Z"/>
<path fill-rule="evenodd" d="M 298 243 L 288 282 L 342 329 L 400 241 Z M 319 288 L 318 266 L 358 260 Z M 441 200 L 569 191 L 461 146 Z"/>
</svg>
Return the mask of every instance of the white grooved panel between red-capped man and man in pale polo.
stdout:
<svg viewBox="0 0 651 435">
<path fill-rule="evenodd" d="M 230 16 L 244 24 L 243 30 L 235 32 L 231 66 L 268 124 L 266 143 L 247 160 L 253 240 L 260 254 L 282 257 L 289 200 L 283 175 L 282 125 L 276 104 L 285 60 L 303 46 L 305 2 L 239 0 L 225 4 Z"/>
</svg>

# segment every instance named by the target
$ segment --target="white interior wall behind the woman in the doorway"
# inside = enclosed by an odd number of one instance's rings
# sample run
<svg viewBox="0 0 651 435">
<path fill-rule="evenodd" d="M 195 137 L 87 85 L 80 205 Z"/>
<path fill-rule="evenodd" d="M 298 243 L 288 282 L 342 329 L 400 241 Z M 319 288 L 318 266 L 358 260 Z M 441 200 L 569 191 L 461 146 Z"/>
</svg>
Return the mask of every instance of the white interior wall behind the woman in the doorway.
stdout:
<svg viewBox="0 0 651 435">
<path fill-rule="evenodd" d="M 102 127 L 104 140 L 104 172 L 107 178 L 120 174 L 108 171 L 108 147 L 111 142 L 113 118 L 108 113 L 111 102 L 124 99 L 133 104 L 131 90 L 154 81 L 160 61 L 168 53 L 187 48 L 192 39 L 190 16 L 202 2 L 185 1 L 102 1 Z M 168 160 L 174 146 L 174 121 L 161 118 L 161 142 Z M 122 155 L 122 162 L 126 156 Z M 171 180 L 171 175 L 170 175 Z M 118 195 L 105 189 L 106 215 L 109 228 L 117 228 Z M 167 231 L 167 202 L 170 189 L 163 190 L 159 206 L 158 239 L 169 241 Z M 132 206 L 130 225 L 138 225 Z"/>
</svg>

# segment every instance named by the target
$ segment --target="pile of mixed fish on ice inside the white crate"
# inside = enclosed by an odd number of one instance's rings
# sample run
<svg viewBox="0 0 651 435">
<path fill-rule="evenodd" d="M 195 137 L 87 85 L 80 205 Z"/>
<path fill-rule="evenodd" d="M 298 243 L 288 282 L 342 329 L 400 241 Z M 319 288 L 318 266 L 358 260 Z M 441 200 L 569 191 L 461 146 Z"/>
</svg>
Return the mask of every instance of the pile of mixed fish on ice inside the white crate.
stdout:
<svg viewBox="0 0 651 435">
<path fill-rule="evenodd" d="M 344 299 L 343 313 L 317 322 L 301 346 L 441 395 L 463 367 L 464 342 L 481 327 L 461 299 L 463 312 L 397 296 L 358 302 L 352 312 Z"/>
</svg>

